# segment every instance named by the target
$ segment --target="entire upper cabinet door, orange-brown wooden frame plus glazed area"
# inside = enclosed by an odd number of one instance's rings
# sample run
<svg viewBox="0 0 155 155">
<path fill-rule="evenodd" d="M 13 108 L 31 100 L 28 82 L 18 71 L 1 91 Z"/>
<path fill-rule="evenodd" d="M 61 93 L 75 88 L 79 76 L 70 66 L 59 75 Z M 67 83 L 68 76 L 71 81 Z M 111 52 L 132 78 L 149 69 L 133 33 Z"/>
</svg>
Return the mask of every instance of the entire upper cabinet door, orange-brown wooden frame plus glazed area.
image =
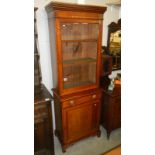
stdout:
<svg viewBox="0 0 155 155">
<path fill-rule="evenodd" d="M 76 23 L 76 24 L 74 24 Z M 87 23 L 87 24 L 85 24 Z M 91 33 L 88 34 L 83 34 L 86 33 L 88 31 L 84 31 L 81 27 L 76 28 L 76 33 L 78 33 L 78 35 L 74 34 L 74 29 L 73 27 L 76 25 L 88 25 L 88 30 L 91 30 L 90 25 L 93 25 L 96 29 L 92 29 L 93 31 Z M 97 25 L 97 27 L 96 27 Z M 99 87 L 99 74 L 100 74 L 100 59 L 98 59 L 98 57 L 100 57 L 101 52 L 99 52 L 101 49 L 101 45 L 99 40 L 101 39 L 101 35 L 100 35 L 100 31 L 102 30 L 102 22 L 101 21 L 97 21 L 97 20 L 80 20 L 80 19 L 72 19 L 72 20 L 67 20 L 67 19 L 56 19 L 56 26 L 58 27 L 58 31 L 57 33 L 57 42 L 59 46 L 58 49 L 58 53 L 57 53 L 57 57 L 58 57 L 58 61 L 59 61 L 59 65 L 58 65 L 58 72 L 59 72 L 59 89 L 60 89 L 60 94 L 62 95 L 67 95 L 76 91 L 82 91 L 82 90 L 88 90 L 88 89 L 94 89 L 94 88 L 98 88 Z M 67 28 L 68 27 L 68 28 Z M 63 28 L 65 31 L 63 31 Z M 68 31 L 66 31 L 68 30 Z M 72 31 L 73 32 L 72 32 Z M 73 34 L 72 34 L 73 33 Z M 95 33 L 93 35 L 93 33 Z M 72 36 L 73 35 L 73 36 Z M 83 36 L 81 36 L 83 35 Z M 72 36 L 72 37 L 71 37 Z M 78 38 L 78 36 L 81 36 L 80 38 Z M 86 37 L 86 38 L 85 38 Z M 95 39 L 93 38 L 95 37 Z M 66 39 L 67 38 L 67 39 Z M 96 41 L 89 41 L 90 39 L 94 39 Z M 81 42 L 80 40 L 83 39 L 87 39 L 86 42 Z M 79 44 L 79 41 L 80 44 Z M 89 45 L 89 44 L 90 45 Z M 70 45 L 72 44 L 72 46 Z M 76 45 L 77 44 L 77 45 Z M 86 44 L 84 46 L 84 44 Z M 88 45 L 87 45 L 88 44 Z M 80 45 L 80 46 L 78 46 Z M 93 46 L 94 45 L 94 46 Z M 79 51 L 78 53 L 82 53 L 82 54 L 76 54 L 75 55 L 75 46 L 79 47 Z M 92 48 L 91 48 L 92 46 Z M 80 47 L 82 49 L 80 49 Z M 85 50 L 85 48 L 87 50 Z M 95 49 L 95 50 L 93 50 Z M 68 52 L 69 51 L 69 52 Z M 89 52 L 88 52 L 89 51 Z M 90 52 L 93 51 L 93 52 Z M 73 53 L 73 54 L 72 54 Z M 88 63 L 88 55 L 93 54 L 91 56 L 89 56 L 89 58 L 94 57 L 94 54 L 96 54 L 95 58 L 93 58 L 95 60 L 95 63 Z M 82 55 L 82 56 L 80 56 Z M 77 57 L 77 58 L 76 58 Z M 82 64 L 81 62 L 79 62 L 80 64 L 76 65 L 73 63 L 69 64 L 70 60 L 76 60 L 78 61 L 78 59 L 80 60 L 82 58 L 82 60 L 84 60 L 84 64 Z M 69 61 L 68 61 L 69 60 Z M 74 61 L 75 62 L 75 61 Z M 69 67 L 70 65 L 70 67 Z M 92 70 L 94 69 L 94 71 L 92 72 Z M 78 71 L 76 71 L 78 70 Z M 88 70 L 88 71 L 87 71 Z M 87 75 L 87 76 L 86 76 Z"/>
</svg>

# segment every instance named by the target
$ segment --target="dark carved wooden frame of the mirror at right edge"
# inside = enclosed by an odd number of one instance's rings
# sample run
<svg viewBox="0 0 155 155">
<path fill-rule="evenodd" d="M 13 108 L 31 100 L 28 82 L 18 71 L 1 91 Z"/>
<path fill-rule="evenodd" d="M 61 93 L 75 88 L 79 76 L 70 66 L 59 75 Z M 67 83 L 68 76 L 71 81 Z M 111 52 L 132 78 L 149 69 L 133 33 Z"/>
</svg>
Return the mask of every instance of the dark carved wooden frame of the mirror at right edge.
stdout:
<svg viewBox="0 0 155 155">
<path fill-rule="evenodd" d="M 110 55 L 110 51 L 109 51 L 109 47 L 110 47 L 110 35 L 111 35 L 111 33 L 114 33 L 114 32 L 116 32 L 118 30 L 121 30 L 121 19 L 119 19 L 117 23 L 112 22 L 112 23 L 110 23 L 108 25 L 107 51 L 108 51 L 109 55 Z M 113 70 L 119 70 L 119 69 L 121 69 L 121 67 L 120 68 L 117 68 L 117 69 L 113 69 Z"/>
</svg>

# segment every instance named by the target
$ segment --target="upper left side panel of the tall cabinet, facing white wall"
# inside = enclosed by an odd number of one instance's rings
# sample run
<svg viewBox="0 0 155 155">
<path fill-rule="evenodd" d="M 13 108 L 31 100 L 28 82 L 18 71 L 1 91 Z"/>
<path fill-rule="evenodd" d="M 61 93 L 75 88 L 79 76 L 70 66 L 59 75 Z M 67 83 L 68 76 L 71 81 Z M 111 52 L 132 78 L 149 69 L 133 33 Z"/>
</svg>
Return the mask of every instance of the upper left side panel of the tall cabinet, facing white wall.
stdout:
<svg viewBox="0 0 155 155">
<path fill-rule="evenodd" d="M 50 51 L 52 62 L 53 87 L 58 87 L 58 72 L 57 72 L 57 55 L 56 55 L 56 33 L 55 33 L 55 18 L 49 18 L 49 33 L 50 33 Z"/>
</svg>

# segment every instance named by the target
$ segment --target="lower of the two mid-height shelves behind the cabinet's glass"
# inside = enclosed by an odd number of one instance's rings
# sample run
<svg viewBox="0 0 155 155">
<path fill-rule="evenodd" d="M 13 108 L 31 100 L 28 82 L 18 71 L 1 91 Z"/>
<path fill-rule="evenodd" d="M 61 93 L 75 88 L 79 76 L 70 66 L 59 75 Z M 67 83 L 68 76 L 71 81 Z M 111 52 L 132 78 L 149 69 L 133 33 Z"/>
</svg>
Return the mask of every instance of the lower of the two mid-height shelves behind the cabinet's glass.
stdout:
<svg viewBox="0 0 155 155">
<path fill-rule="evenodd" d="M 71 60 L 64 60 L 64 65 L 73 65 L 73 64 L 83 64 L 83 63 L 90 63 L 90 62 L 96 62 L 96 59 L 94 58 L 79 58 L 79 59 L 71 59 Z"/>
</svg>

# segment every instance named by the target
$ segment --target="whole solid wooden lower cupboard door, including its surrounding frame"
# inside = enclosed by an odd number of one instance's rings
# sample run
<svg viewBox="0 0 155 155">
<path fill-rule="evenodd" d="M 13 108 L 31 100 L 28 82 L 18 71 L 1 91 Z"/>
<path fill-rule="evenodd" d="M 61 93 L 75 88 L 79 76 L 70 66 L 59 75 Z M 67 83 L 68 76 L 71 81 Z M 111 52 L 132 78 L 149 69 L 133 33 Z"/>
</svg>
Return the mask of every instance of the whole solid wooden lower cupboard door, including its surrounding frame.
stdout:
<svg viewBox="0 0 155 155">
<path fill-rule="evenodd" d="M 64 110 L 65 141 L 80 139 L 97 126 L 97 103 L 84 103 Z"/>
</svg>

